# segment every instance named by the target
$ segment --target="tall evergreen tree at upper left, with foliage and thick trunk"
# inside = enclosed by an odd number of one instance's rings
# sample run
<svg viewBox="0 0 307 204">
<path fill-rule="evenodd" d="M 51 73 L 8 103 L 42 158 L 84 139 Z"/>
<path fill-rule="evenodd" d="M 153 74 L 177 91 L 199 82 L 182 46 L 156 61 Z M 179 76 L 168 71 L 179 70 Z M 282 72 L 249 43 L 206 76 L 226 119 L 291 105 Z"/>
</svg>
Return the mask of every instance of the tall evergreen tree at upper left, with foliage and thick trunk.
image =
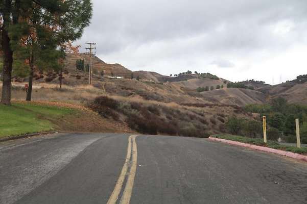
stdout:
<svg viewBox="0 0 307 204">
<path fill-rule="evenodd" d="M 19 55 L 29 54 L 29 63 L 33 65 L 39 58 L 58 56 L 57 47 L 81 37 L 91 12 L 90 0 L 0 0 L 4 59 L 2 104 L 11 103 L 13 53 L 18 50 Z M 22 40 L 25 36 L 26 44 Z M 39 55 L 36 56 L 36 52 Z"/>
</svg>

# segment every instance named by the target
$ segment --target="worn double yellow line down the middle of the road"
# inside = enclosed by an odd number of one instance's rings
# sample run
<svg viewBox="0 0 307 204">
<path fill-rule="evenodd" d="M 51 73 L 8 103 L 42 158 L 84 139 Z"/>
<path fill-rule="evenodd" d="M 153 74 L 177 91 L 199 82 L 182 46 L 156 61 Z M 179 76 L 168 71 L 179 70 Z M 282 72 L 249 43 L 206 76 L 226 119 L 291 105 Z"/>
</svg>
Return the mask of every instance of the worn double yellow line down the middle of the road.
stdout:
<svg viewBox="0 0 307 204">
<path fill-rule="evenodd" d="M 133 189 L 133 183 L 134 183 L 134 177 L 135 177 L 135 171 L 136 171 L 136 163 L 137 163 L 137 148 L 136 148 L 136 142 L 135 142 L 136 137 L 137 135 L 131 135 L 128 138 L 126 161 L 122 168 L 122 172 L 120 174 L 119 180 L 117 180 L 115 188 L 107 202 L 108 204 L 115 204 L 117 199 L 119 199 L 119 196 L 120 196 L 120 193 L 121 193 L 121 190 L 122 190 L 122 187 L 123 187 L 126 175 L 127 175 L 129 163 L 131 164 L 131 167 L 130 167 L 129 175 L 127 178 L 127 182 L 126 182 L 125 189 L 121 197 L 120 203 L 128 204 L 130 202 L 132 189 Z"/>
</svg>

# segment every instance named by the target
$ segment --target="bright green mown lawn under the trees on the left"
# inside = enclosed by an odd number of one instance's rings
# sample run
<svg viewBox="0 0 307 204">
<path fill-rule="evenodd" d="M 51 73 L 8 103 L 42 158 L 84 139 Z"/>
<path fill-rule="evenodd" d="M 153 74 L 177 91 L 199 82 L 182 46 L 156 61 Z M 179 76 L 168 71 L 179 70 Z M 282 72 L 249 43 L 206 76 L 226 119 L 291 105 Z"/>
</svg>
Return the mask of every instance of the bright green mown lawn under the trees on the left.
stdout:
<svg viewBox="0 0 307 204">
<path fill-rule="evenodd" d="M 34 104 L 0 105 L 0 138 L 52 131 L 56 128 L 52 120 L 72 112 L 71 109 Z"/>
</svg>

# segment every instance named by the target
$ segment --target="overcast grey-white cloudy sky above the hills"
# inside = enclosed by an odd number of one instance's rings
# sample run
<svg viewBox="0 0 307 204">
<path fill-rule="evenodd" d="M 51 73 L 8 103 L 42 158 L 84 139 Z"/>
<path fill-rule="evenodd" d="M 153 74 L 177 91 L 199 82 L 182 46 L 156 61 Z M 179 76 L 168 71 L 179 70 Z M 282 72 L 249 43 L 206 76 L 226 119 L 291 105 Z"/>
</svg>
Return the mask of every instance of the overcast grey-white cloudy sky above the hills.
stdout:
<svg viewBox="0 0 307 204">
<path fill-rule="evenodd" d="M 130 70 L 279 84 L 307 74 L 306 0 L 92 0 L 85 42 Z"/>
</svg>

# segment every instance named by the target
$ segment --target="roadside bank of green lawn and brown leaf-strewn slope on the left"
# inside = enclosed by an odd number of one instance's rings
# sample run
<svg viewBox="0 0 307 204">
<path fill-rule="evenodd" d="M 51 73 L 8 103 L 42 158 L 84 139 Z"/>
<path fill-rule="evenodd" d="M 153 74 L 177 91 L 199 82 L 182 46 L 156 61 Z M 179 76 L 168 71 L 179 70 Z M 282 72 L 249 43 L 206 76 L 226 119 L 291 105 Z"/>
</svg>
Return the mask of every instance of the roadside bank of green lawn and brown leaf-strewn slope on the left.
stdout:
<svg viewBox="0 0 307 204">
<path fill-rule="evenodd" d="M 11 106 L 0 105 L 0 129 L 0 138 L 46 131 L 135 133 L 84 106 L 59 101 L 14 100 Z"/>
</svg>

